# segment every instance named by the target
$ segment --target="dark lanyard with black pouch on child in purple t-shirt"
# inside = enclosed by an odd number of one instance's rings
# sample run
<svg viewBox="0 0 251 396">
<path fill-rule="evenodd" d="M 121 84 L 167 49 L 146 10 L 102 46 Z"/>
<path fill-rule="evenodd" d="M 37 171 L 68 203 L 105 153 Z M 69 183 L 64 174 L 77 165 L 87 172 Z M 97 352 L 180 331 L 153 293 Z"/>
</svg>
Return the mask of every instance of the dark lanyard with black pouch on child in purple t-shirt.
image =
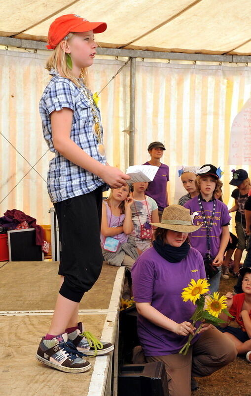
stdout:
<svg viewBox="0 0 251 396">
<path fill-rule="evenodd" d="M 213 227 L 213 223 L 214 223 L 214 217 L 215 217 L 215 209 L 216 209 L 216 199 L 214 199 L 214 203 L 213 203 L 213 211 L 212 211 L 212 216 L 209 219 L 209 221 L 207 221 L 206 219 L 206 215 L 202 206 L 202 201 L 201 201 L 201 197 L 198 196 L 198 202 L 199 202 L 199 206 L 200 206 L 200 210 L 201 210 L 201 214 L 203 217 L 203 223 L 206 227 L 207 230 L 207 247 L 208 247 L 208 252 L 206 253 L 206 259 L 204 260 L 204 264 L 205 264 L 205 269 L 206 269 L 206 275 L 207 275 L 207 279 L 211 279 L 213 278 L 213 276 L 215 276 L 218 272 L 218 268 L 215 267 L 214 265 L 212 265 L 212 260 L 213 258 L 211 257 L 210 254 L 210 230 Z"/>
</svg>

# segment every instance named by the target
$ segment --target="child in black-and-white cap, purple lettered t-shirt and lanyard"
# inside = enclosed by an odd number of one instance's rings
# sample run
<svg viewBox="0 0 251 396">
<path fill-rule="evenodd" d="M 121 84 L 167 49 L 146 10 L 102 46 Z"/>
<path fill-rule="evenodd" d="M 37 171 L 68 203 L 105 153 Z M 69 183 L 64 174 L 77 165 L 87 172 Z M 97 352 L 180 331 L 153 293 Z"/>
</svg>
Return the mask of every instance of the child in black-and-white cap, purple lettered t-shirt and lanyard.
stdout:
<svg viewBox="0 0 251 396">
<path fill-rule="evenodd" d="M 221 265 L 224 252 L 229 241 L 228 225 L 231 217 L 225 203 L 215 199 L 218 187 L 219 170 L 214 165 L 203 165 L 196 178 L 198 197 L 194 197 L 184 204 L 194 216 L 194 224 L 202 227 L 190 234 L 192 247 L 199 250 L 204 262 L 211 261 L 218 272 L 209 280 L 211 293 L 219 289 Z M 208 273 L 209 274 L 209 273 Z"/>
</svg>

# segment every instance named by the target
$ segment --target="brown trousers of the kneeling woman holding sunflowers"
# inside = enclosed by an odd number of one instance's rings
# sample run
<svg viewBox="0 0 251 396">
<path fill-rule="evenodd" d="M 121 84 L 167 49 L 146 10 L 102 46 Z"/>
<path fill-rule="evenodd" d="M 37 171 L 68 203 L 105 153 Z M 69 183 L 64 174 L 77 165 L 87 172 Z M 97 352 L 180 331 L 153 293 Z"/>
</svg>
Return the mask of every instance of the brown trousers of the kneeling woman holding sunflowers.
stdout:
<svg viewBox="0 0 251 396">
<path fill-rule="evenodd" d="M 176 353 L 146 356 L 146 360 L 162 361 L 165 364 L 170 396 L 191 396 L 191 375 L 208 376 L 231 363 L 236 355 L 234 343 L 214 327 L 200 336 L 186 356 Z"/>
</svg>

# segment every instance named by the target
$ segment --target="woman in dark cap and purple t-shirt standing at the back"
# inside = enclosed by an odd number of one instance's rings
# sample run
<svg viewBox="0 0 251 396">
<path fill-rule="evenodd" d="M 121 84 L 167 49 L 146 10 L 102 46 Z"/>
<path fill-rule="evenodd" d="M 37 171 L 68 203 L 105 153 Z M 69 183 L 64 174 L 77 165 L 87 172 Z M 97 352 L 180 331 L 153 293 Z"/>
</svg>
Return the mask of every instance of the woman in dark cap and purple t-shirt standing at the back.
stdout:
<svg viewBox="0 0 251 396">
<path fill-rule="evenodd" d="M 160 162 L 160 158 L 163 156 L 165 146 L 161 142 L 152 142 L 149 144 L 147 150 L 151 156 L 150 161 L 145 162 L 143 165 L 154 165 L 158 166 L 158 171 L 152 182 L 149 183 L 145 195 L 151 197 L 157 202 L 159 210 L 159 221 L 163 210 L 168 206 L 168 192 L 167 182 L 169 181 L 169 166 Z"/>
</svg>

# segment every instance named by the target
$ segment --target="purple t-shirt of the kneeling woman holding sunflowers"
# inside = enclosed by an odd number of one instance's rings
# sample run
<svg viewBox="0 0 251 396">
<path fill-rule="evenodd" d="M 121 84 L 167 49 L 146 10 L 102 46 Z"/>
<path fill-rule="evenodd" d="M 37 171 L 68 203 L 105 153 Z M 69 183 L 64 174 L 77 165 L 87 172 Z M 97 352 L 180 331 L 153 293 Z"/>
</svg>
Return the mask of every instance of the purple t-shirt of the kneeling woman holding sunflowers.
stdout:
<svg viewBox="0 0 251 396">
<path fill-rule="evenodd" d="M 205 277 L 202 256 L 192 247 L 187 256 L 178 263 L 170 263 L 154 247 L 150 247 L 140 255 L 132 268 L 133 296 L 136 302 L 151 302 L 163 315 L 182 323 L 189 321 L 196 308 L 191 301 L 182 300 L 182 289 L 188 286 L 191 279 L 197 281 Z M 178 336 L 156 326 L 140 314 L 138 335 L 145 356 L 178 353 L 188 340 L 188 336 Z"/>
</svg>

